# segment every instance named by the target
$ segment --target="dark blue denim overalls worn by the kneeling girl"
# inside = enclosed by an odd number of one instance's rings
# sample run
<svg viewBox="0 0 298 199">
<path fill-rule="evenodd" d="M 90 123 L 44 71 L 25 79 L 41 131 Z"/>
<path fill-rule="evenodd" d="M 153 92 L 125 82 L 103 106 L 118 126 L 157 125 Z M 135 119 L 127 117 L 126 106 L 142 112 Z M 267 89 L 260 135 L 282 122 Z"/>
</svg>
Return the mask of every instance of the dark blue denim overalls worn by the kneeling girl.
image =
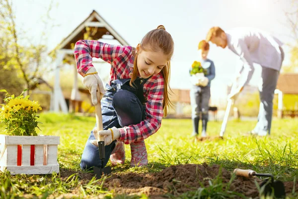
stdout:
<svg viewBox="0 0 298 199">
<path fill-rule="evenodd" d="M 144 84 L 147 79 L 138 78 L 134 81 L 135 88 L 129 85 L 131 79 L 119 79 L 106 85 L 105 95 L 101 100 L 103 130 L 113 126 L 121 128 L 131 124 L 138 124 L 146 118 L 146 99 L 144 97 Z M 96 126 L 96 124 L 95 124 Z M 92 170 L 93 166 L 101 167 L 98 147 L 90 143 L 94 140 L 91 131 L 82 153 L 80 167 L 83 170 Z M 103 166 L 109 161 L 115 148 L 116 140 L 105 146 L 105 160 Z"/>
</svg>

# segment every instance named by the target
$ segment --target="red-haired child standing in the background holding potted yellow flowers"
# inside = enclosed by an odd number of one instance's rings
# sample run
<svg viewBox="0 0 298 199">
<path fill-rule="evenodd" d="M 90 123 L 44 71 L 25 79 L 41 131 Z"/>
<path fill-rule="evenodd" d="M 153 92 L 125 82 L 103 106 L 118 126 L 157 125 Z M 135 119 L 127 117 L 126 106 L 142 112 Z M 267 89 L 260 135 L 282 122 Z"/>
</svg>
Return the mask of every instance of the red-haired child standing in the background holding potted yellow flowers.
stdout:
<svg viewBox="0 0 298 199">
<path fill-rule="evenodd" d="M 198 46 L 201 56 L 201 65 L 205 69 L 205 77 L 198 79 L 193 83 L 190 91 L 190 102 L 192 106 L 193 136 L 199 134 L 200 113 L 202 115 L 202 137 L 206 137 L 208 109 L 210 100 L 210 84 L 215 78 L 215 66 L 213 61 L 207 59 L 209 52 L 209 43 L 205 40 L 200 41 Z M 191 70 L 191 69 L 190 69 Z"/>
</svg>

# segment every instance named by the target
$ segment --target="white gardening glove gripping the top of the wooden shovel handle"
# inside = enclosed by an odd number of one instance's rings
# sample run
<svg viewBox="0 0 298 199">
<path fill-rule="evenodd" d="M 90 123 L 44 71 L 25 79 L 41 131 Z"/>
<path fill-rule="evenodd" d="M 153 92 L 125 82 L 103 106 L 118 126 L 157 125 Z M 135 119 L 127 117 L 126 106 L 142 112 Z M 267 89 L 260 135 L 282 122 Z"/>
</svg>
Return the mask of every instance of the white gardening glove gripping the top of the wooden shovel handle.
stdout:
<svg viewBox="0 0 298 199">
<path fill-rule="evenodd" d="M 100 95 L 101 98 L 103 97 L 103 94 L 104 94 L 104 88 L 103 88 L 103 84 L 102 84 L 100 77 L 97 74 L 92 74 L 92 73 L 97 73 L 96 69 L 94 67 L 89 68 L 89 70 L 87 70 L 87 72 L 85 73 L 85 76 L 83 79 L 83 84 L 89 90 L 89 92 L 91 94 L 91 100 L 92 100 L 93 105 L 96 105 L 97 104 L 97 98 L 96 98 L 97 87 L 99 88 L 99 92 L 102 94 L 102 95 Z M 99 99 L 99 100 L 101 100 L 101 99 Z"/>
</svg>

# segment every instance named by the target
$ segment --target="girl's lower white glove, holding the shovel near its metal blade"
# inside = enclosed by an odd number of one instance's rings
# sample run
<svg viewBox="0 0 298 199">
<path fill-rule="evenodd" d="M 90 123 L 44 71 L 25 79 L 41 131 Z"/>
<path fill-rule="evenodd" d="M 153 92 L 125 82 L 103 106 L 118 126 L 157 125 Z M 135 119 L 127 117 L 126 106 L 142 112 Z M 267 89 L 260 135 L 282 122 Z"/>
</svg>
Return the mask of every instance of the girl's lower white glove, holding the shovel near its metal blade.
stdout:
<svg viewBox="0 0 298 199">
<path fill-rule="evenodd" d="M 113 131 L 113 136 L 112 136 Z M 93 135 L 95 137 L 95 140 L 90 140 L 91 144 L 94 146 L 98 146 L 98 136 L 105 136 L 104 138 L 104 145 L 111 144 L 114 140 L 118 139 L 120 137 L 120 131 L 116 127 L 109 128 L 108 130 L 101 130 L 97 132 L 97 129 L 93 129 Z"/>
</svg>

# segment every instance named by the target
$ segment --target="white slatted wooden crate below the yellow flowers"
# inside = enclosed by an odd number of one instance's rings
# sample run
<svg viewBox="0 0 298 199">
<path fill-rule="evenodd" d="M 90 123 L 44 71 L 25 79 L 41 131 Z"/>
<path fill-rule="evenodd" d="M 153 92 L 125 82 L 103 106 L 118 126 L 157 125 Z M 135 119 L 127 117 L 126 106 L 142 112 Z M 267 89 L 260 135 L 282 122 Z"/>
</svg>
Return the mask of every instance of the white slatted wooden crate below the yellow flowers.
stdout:
<svg viewBox="0 0 298 199">
<path fill-rule="evenodd" d="M 11 175 L 59 173 L 58 144 L 59 136 L 0 135 L 0 171 L 6 169 Z"/>
</svg>

